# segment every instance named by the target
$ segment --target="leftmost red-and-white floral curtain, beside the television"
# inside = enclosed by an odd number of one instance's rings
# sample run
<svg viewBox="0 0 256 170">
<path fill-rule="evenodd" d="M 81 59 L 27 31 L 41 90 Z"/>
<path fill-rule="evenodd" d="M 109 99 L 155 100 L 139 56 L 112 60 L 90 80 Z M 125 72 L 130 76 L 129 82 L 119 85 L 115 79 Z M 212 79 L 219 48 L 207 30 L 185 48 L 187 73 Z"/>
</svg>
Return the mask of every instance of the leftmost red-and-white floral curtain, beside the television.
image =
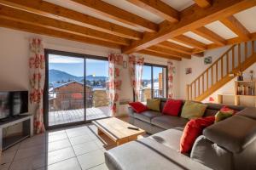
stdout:
<svg viewBox="0 0 256 170">
<path fill-rule="evenodd" d="M 30 112 L 34 115 L 35 133 L 43 133 L 43 94 L 45 79 L 45 60 L 42 40 L 33 38 L 29 44 L 29 81 L 30 81 Z"/>
</svg>

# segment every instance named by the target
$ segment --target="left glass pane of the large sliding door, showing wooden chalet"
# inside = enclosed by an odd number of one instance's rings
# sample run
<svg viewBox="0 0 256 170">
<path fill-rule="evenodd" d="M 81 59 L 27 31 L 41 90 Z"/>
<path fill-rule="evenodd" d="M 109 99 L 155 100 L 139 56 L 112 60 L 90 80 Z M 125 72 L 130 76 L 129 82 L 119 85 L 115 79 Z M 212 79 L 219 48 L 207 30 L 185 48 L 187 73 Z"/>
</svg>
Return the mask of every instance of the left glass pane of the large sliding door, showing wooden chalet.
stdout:
<svg viewBox="0 0 256 170">
<path fill-rule="evenodd" d="M 49 126 L 84 121 L 84 59 L 49 54 Z"/>
</svg>

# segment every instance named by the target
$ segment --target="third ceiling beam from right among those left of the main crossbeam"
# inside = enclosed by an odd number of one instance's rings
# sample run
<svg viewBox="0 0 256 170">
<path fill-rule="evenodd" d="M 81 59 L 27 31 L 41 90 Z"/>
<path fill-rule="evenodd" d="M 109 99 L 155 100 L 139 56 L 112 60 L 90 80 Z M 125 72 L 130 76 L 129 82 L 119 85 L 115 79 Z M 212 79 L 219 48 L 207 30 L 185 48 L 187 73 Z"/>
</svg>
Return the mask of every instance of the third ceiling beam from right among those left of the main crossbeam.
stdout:
<svg viewBox="0 0 256 170">
<path fill-rule="evenodd" d="M 95 12 L 96 14 L 101 14 L 113 20 L 118 20 L 119 22 L 130 26 L 136 26 L 145 31 L 158 31 L 158 25 L 154 24 L 154 22 L 143 19 L 136 14 L 127 12 L 122 8 L 118 8 L 109 3 L 105 3 L 102 0 L 68 0 L 68 2 L 83 5 L 83 7 Z"/>
</svg>

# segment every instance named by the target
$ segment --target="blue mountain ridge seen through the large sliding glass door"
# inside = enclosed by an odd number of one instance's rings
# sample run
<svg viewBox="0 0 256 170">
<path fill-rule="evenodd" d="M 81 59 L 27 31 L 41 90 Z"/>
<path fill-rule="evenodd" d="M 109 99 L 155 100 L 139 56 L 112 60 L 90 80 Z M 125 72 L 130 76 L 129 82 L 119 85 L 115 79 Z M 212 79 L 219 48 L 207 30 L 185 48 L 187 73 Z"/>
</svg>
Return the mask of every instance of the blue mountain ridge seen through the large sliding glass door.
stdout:
<svg viewBox="0 0 256 170">
<path fill-rule="evenodd" d="M 68 82 L 68 81 L 78 81 L 81 82 L 84 80 L 84 77 L 76 77 L 71 74 L 68 74 L 65 71 L 58 70 L 49 70 L 49 83 L 51 82 Z M 89 75 L 86 77 L 88 81 L 107 81 L 108 77 L 93 77 Z"/>
</svg>

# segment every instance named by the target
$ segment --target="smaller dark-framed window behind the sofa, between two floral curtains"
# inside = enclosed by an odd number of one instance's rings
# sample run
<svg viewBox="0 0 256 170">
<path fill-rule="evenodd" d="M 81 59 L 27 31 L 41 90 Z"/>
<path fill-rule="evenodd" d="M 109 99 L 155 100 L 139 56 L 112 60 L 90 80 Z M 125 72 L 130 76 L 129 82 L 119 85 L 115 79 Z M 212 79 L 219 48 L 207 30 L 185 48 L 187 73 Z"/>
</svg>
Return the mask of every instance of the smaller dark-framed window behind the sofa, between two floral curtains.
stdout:
<svg viewBox="0 0 256 170">
<path fill-rule="evenodd" d="M 143 65 L 143 81 L 139 94 L 143 102 L 166 97 L 166 66 Z"/>
</svg>

